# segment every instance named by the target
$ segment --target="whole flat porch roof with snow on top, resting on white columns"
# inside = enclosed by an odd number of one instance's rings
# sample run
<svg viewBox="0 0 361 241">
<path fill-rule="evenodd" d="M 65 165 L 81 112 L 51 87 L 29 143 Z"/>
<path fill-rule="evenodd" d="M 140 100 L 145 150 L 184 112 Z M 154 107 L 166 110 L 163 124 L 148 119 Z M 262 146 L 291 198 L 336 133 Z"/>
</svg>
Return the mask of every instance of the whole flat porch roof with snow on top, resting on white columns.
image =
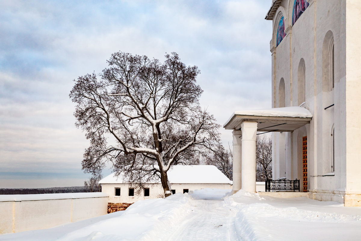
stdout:
<svg viewBox="0 0 361 241">
<path fill-rule="evenodd" d="M 240 130 L 243 121 L 257 122 L 260 132 L 291 132 L 310 123 L 312 114 L 304 107 L 282 107 L 234 112 L 223 125 L 227 130 Z"/>
</svg>

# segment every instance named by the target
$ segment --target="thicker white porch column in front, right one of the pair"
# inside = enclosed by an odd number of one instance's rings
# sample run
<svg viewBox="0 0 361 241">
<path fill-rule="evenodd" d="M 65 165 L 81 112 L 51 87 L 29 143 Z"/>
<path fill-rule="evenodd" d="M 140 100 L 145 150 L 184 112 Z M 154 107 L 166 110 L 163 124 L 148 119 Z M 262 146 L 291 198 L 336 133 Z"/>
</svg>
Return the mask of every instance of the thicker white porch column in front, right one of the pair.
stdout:
<svg viewBox="0 0 361 241">
<path fill-rule="evenodd" d="M 243 122 L 242 129 L 242 189 L 256 191 L 257 122 Z"/>
</svg>

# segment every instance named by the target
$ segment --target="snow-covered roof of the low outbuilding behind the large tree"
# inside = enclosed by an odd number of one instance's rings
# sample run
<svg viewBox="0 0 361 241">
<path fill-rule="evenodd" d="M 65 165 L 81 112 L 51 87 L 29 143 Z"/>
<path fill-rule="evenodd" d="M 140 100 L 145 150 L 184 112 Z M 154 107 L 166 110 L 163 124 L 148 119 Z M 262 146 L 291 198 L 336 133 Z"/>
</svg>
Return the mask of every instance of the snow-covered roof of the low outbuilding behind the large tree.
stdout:
<svg viewBox="0 0 361 241">
<path fill-rule="evenodd" d="M 167 172 L 171 184 L 232 184 L 214 165 L 175 165 Z M 122 184 L 122 176 L 104 177 L 100 184 Z"/>
</svg>

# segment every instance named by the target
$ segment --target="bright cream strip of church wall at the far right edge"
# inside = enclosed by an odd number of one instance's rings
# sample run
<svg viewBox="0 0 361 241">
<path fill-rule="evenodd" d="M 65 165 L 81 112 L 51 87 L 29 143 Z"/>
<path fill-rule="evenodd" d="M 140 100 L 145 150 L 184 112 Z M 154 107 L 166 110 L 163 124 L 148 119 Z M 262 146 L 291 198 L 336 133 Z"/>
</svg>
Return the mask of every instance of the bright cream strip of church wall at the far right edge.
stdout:
<svg viewBox="0 0 361 241">
<path fill-rule="evenodd" d="M 346 1 L 346 191 L 361 193 L 361 3 Z M 361 206 L 361 203 L 360 203 Z"/>
</svg>

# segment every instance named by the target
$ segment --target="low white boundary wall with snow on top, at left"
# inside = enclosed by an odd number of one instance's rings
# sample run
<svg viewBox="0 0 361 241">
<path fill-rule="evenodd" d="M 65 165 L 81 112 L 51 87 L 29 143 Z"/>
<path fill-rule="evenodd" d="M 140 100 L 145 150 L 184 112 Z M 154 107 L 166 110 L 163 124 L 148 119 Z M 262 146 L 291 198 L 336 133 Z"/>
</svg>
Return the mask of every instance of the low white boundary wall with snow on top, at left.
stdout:
<svg viewBox="0 0 361 241">
<path fill-rule="evenodd" d="M 51 228 L 108 213 L 108 194 L 0 195 L 0 234 Z"/>
</svg>

